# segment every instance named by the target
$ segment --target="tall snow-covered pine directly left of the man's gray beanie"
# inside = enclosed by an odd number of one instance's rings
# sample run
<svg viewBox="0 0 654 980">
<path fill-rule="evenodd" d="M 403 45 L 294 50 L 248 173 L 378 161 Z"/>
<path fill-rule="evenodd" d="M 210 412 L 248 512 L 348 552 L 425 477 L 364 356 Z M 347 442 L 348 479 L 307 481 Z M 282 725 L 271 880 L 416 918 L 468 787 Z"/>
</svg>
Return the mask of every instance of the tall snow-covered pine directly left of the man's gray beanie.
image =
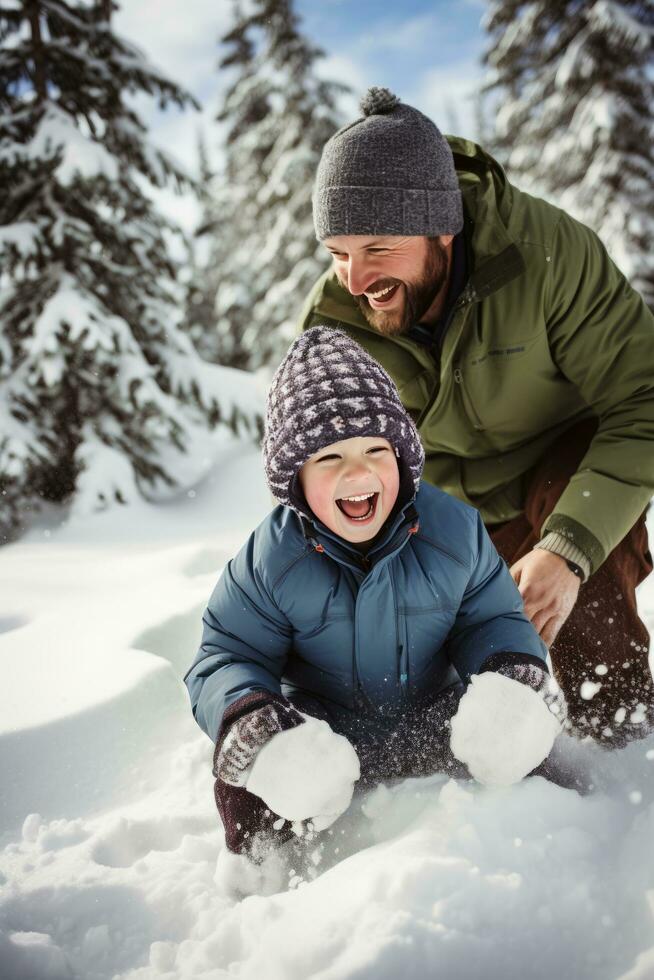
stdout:
<svg viewBox="0 0 654 980">
<path fill-rule="evenodd" d="M 323 52 L 301 34 L 291 0 L 234 4 L 220 67 L 225 162 L 214 179 L 215 359 L 275 363 L 299 304 L 328 264 L 314 236 L 311 188 L 347 86 L 316 74 Z"/>
</svg>

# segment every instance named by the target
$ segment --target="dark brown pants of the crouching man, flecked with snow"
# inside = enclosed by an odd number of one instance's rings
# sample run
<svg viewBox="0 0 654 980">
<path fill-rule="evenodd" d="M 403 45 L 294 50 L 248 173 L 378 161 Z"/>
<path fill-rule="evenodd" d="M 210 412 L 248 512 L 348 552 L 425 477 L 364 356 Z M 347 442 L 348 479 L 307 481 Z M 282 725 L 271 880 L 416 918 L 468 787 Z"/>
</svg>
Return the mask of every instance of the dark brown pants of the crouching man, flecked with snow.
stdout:
<svg viewBox="0 0 654 980">
<path fill-rule="evenodd" d="M 533 470 L 524 514 L 488 528 L 509 566 L 540 539 L 541 527 L 576 471 L 595 429 L 593 421 L 569 429 Z M 554 672 L 568 702 L 572 730 L 612 746 L 648 734 L 654 724 L 649 633 L 638 616 L 635 594 L 636 586 L 651 571 L 642 514 L 581 586 L 577 602 L 550 649 Z M 582 688 L 585 681 L 601 684 L 592 697 L 594 688 L 588 684 Z"/>
</svg>

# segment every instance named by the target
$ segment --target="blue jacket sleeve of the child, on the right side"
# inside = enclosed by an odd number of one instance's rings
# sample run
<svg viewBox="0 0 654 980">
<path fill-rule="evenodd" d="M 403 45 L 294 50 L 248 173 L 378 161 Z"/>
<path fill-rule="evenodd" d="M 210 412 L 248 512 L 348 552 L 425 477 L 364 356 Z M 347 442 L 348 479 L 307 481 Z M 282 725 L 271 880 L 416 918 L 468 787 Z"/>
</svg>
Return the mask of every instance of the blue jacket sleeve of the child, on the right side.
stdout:
<svg viewBox="0 0 654 980">
<path fill-rule="evenodd" d="M 527 619 L 517 586 L 480 514 L 473 519 L 472 569 L 447 640 L 450 660 L 466 683 L 494 654 L 529 654 L 543 666 L 547 658 L 547 647 Z"/>
</svg>

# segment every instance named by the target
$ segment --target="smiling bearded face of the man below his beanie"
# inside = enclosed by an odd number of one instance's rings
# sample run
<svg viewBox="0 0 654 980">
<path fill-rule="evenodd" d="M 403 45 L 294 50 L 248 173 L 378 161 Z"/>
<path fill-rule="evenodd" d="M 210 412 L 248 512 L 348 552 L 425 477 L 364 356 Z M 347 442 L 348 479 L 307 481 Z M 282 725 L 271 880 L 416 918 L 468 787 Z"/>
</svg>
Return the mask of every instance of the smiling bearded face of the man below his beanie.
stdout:
<svg viewBox="0 0 654 980">
<path fill-rule="evenodd" d="M 383 334 L 404 333 L 436 319 L 447 284 L 452 235 L 340 235 L 323 244 L 341 285 L 355 297 L 368 323 Z"/>
</svg>

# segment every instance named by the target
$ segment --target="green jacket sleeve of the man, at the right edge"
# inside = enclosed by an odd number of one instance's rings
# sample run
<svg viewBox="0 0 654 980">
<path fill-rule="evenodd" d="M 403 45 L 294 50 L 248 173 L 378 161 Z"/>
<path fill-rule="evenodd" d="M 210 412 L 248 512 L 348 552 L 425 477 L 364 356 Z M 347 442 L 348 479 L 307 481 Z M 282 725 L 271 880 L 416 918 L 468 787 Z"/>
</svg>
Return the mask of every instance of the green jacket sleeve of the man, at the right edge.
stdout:
<svg viewBox="0 0 654 980">
<path fill-rule="evenodd" d="M 654 317 L 597 236 L 565 214 L 551 264 L 552 356 L 599 426 L 542 533 L 572 541 L 593 572 L 654 493 Z"/>
</svg>

